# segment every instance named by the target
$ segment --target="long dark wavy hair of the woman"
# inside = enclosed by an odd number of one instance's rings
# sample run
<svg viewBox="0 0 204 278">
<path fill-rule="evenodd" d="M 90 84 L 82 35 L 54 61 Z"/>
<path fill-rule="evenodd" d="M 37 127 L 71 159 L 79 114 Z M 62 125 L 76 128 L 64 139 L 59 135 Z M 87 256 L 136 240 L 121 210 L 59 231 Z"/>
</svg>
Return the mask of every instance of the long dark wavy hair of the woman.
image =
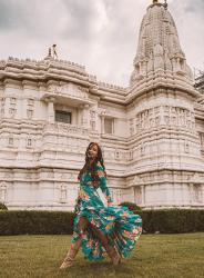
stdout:
<svg viewBox="0 0 204 278">
<path fill-rule="evenodd" d="M 89 153 L 90 148 L 93 145 L 98 146 L 98 156 L 96 156 L 94 162 L 90 163 L 90 158 L 88 157 L 88 153 Z M 91 178 L 92 178 L 92 180 L 93 181 L 98 181 L 99 180 L 99 176 L 96 175 L 96 171 L 95 171 L 95 166 L 96 166 L 98 161 L 100 161 L 101 166 L 103 167 L 103 170 L 104 170 L 104 173 L 105 173 L 105 177 L 106 177 L 105 167 L 104 167 L 104 162 L 103 162 L 102 150 L 101 150 L 99 143 L 96 143 L 96 142 L 90 142 L 90 145 L 88 146 L 86 151 L 85 151 L 85 163 L 84 163 L 83 168 L 80 170 L 80 172 L 78 175 L 78 179 L 80 180 L 81 177 L 82 177 L 82 175 L 84 172 L 91 171 Z"/>
</svg>

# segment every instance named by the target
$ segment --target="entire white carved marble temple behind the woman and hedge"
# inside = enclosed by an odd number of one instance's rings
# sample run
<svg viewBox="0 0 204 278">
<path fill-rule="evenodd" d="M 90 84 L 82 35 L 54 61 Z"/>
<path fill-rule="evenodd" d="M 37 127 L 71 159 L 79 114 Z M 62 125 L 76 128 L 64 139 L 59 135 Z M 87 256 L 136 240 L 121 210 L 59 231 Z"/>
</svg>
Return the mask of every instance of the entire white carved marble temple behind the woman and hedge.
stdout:
<svg viewBox="0 0 204 278">
<path fill-rule="evenodd" d="M 51 54 L 0 61 L 0 201 L 72 210 L 90 141 L 115 203 L 204 208 L 204 96 L 165 3 L 147 8 L 130 85 Z"/>
</svg>

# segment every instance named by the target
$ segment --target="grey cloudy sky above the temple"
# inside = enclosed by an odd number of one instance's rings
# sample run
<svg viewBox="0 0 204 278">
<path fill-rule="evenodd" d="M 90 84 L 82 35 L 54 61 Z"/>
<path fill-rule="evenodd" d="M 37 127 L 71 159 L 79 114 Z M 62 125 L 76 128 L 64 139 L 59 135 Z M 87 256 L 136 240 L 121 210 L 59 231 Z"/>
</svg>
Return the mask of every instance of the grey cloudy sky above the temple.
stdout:
<svg viewBox="0 0 204 278">
<path fill-rule="evenodd" d="M 128 86 L 139 29 L 151 0 L 0 0 L 0 59 L 78 62 L 98 80 Z M 163 0 L 161 0 L 163 2 Z M 204 70 L 204 0 L 169 0 L 182 48 Z"/>
</svg>

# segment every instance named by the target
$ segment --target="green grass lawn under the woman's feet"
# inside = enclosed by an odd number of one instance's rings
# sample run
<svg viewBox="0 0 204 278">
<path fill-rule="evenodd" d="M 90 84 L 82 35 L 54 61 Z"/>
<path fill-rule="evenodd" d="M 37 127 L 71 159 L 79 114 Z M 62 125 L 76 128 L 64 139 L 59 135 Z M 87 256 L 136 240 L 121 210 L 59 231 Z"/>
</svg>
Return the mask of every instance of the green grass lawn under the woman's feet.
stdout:
<svg viewBox="0 0 204 278">
<path fill-rule="evenodd" d="M 70 269 L 60 270 L 70 239 L 71 236 L 0 237 L 0 277 L 204 277 L 204 234 L 142 235 L 132 257 L 118 267 L 109 258 L 101 262 L 84 260 L 80 251 Z"/>
</svg>

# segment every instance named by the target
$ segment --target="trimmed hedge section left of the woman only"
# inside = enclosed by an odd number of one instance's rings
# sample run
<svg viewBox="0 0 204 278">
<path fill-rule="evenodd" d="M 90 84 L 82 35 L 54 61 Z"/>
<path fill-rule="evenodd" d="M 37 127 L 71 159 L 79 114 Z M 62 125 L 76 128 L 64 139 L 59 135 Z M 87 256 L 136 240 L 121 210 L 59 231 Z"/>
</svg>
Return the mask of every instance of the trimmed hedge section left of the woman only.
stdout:
<svg viewBox="0 0 204 278">
<path fill-rule="evenodd" d="M 0 210 L 2 235 L 71 235 L 73 212 Z"/>
</svg>

